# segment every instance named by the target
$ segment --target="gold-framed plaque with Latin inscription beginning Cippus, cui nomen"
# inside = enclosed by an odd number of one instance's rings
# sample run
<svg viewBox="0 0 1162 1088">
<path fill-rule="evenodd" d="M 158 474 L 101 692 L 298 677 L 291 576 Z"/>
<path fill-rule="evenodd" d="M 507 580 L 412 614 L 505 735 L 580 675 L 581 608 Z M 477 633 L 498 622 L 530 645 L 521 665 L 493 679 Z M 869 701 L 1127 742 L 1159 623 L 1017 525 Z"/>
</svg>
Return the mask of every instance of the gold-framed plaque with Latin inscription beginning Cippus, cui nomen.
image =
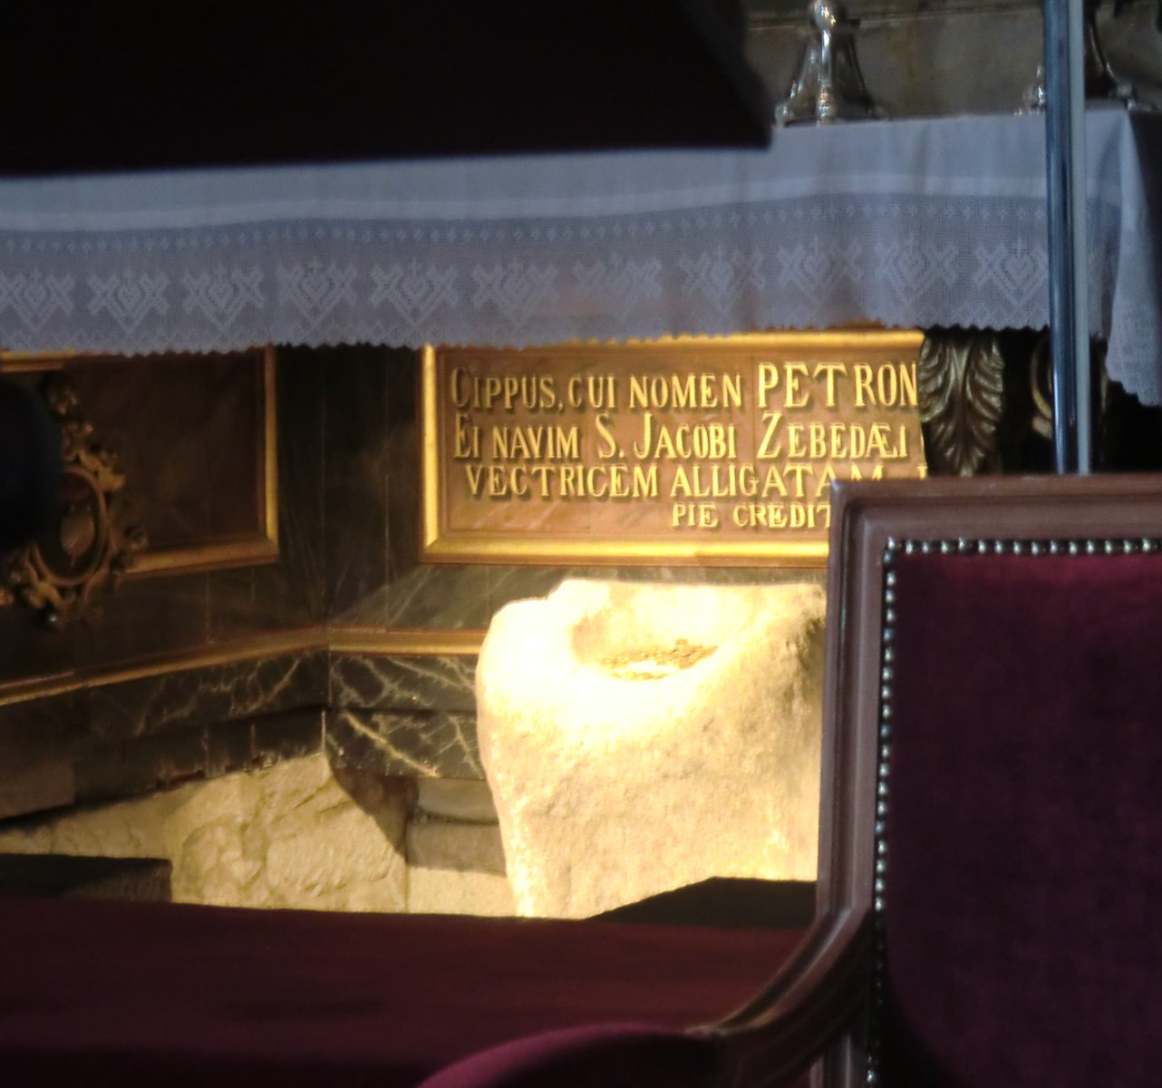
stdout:
<svg viewBox="0 0 1162 1088">
<path fill-rule="evenodd" d="M 923 338 L 426 348 L 422 557 L 822 564 L 833 481 L 925 474 Z"/>
</svg>

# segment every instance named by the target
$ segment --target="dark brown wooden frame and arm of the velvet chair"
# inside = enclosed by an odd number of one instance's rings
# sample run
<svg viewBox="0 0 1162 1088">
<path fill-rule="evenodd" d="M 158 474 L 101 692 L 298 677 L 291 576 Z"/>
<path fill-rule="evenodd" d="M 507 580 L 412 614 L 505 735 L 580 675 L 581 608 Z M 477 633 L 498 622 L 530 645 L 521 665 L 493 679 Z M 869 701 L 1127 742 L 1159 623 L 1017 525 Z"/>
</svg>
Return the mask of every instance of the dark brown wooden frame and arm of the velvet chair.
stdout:
<svg viewBox="0 0 1162 1088">
<path fill-rule="evenodd" d="M 812 1088 L 877 1080 L 868 1023 L 877 985 L 877 790 L 890 730 L 894 556 L 1162 550 L 1162 477 L 840 485 L 832 515 L 816 921 L 766 990 L 705 1029 L 720 1048 L 723 1088 L 786 1086 L 809 1067 Z"/>
</svg>

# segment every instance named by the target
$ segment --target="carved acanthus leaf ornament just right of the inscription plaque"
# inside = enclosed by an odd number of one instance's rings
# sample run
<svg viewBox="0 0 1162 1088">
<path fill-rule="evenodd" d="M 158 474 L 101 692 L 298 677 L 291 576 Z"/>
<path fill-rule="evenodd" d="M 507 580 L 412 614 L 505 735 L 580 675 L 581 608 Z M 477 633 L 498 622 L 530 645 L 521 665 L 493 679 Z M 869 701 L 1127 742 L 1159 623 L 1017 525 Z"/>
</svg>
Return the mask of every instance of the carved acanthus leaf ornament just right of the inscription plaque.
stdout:
<svg viewBox="0 0 1162 1088">
<path fill-rule="evenodd" d="M 992 332 L 933 332 L 917 363 L 924 452 L 933 474 L 974 475 L 997 451 L 1004 356 Z"/>
</svg>

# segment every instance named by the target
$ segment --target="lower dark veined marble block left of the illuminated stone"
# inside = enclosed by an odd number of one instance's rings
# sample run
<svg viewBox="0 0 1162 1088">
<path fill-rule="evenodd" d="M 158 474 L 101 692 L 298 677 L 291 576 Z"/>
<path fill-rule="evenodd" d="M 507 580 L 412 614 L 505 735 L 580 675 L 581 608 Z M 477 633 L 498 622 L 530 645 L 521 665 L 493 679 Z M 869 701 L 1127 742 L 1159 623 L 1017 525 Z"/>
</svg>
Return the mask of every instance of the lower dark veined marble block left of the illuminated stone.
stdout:
<svg viewBox="0 0 1162 1088">
<path fill-rule="evenodd" d="M 328 710 L 325 740 L 337 767 L 421 778 L 485 776 L 474 714 Z"/>
</svg>

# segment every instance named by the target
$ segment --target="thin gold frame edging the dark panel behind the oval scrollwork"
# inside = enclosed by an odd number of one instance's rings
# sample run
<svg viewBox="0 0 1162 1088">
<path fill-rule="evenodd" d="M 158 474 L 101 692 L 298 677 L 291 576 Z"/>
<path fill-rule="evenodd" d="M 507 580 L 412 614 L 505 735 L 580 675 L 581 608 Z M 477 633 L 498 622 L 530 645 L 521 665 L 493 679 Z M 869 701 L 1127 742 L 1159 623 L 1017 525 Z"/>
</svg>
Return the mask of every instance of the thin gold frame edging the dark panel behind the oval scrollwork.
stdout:
<svg viewBox="0 0 1162 1088">
<path fill-rule="evenodd" d="M 246 352 L 254 353 L 254 352 Z M 79 352 L 23 355 L 0 351 L 0 373 L 38 373 L 60 370 L 70 363 L 119 356 L 85 356 Z M 258 405 L 258 428 L 263 456 L 254 479 L 254 507 L 259 528 L 254 534 L 224 541 L 209 541 L 177 547 L 146 549 L 125 579 L 160 578 L 222 571 L 239 566 L 259 566 L 279 558 L 279 441 L 278 441 L 278 363 L 273 345 L 261 349 L 261 393 Z M 0 703 L 2 704 L 2 703 Z"/>
</svg>

